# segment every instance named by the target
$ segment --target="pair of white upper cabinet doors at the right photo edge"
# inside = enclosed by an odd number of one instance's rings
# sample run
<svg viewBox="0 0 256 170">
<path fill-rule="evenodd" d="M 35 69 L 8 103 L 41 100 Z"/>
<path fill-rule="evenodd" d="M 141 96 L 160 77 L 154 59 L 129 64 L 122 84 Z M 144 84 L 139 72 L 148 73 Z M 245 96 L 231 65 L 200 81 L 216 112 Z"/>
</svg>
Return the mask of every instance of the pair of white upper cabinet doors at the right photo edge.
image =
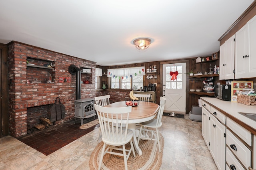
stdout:
<svg viewBox="0 0 256 170">
<path fill-rule="evenodd" d="M 256 77 L 256 16 L 236 32 L 235 78 Z"/>
</svg>

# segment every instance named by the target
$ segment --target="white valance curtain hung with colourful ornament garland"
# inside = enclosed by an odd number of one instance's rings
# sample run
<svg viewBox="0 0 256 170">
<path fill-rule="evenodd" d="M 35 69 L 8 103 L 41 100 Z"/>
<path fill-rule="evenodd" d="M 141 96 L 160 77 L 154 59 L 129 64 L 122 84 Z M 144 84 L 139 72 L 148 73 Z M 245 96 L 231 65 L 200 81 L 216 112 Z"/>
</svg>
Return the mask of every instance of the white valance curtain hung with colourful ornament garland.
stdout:
<svg viewBox="0 0 256 170">
<path fill-rule="evenodd" d="M 116 76 L 143 76 L 145 75 L 145 67 L 129 67 L 108 69 L 108 77 Z"/>
</svg>

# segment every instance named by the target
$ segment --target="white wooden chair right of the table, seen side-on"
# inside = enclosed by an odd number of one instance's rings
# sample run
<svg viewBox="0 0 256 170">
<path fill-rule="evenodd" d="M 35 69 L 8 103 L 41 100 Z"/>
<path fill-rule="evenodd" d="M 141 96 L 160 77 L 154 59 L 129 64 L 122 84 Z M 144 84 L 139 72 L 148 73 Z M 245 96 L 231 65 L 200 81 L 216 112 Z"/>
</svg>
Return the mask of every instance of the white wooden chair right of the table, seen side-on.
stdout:
<svg viewBox="0 0 256 170">
<path fill-rule="evenodd" d="M 160 139 L 159 139 L 158 128 L 162 126 L 161 119 L 164 113 L 165 103 L 166 103 L 166 98 L 160 97 L 160 107 L 158 109 L 157 117 L 155 119 L 151 119 L 149 121 L 139 123 L 140 133 L 139 133 L 137 142 L 139 143 L 140 139 L 157 141 L 159 152 L 161 152 L 161 150 L 160 150 Z M 148 128 L 153 128 L 155 130 L 148 129 Z M 142 131 L 144 132 L 143 134 L 145 134 L 145 137 L 141 137 Z M 156 133 L 156 138 L 154 138 L 154 133 Z"/>
</svg>

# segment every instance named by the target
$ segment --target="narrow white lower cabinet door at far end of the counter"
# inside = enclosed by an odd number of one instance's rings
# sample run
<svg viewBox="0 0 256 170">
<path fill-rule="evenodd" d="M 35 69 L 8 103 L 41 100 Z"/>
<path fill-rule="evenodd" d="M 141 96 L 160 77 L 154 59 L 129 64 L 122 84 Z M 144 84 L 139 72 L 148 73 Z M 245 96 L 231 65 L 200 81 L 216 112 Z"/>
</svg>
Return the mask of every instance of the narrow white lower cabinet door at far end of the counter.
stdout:
<svg viewBox="0 0 256 170">
<path fill-rule="evenodd" d="M 210 112 L 202 107 L 202 136 L 210 150 Z"/>
</svg>

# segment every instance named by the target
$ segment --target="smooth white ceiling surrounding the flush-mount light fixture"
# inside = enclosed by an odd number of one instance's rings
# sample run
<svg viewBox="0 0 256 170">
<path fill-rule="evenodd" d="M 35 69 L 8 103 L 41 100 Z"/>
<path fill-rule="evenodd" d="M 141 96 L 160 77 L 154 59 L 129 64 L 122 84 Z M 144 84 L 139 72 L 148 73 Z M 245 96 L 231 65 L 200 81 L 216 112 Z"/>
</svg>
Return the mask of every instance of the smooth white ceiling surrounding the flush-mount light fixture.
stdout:
<svg viewBox="0 0 256 170">
<path fill-rule="evenodd" d="M 0 43 L 102 66 L 208 56 L 253 0 L 0 0 Z M 146 51 L 133 40 L 152 39 Z"/>
</svg>

